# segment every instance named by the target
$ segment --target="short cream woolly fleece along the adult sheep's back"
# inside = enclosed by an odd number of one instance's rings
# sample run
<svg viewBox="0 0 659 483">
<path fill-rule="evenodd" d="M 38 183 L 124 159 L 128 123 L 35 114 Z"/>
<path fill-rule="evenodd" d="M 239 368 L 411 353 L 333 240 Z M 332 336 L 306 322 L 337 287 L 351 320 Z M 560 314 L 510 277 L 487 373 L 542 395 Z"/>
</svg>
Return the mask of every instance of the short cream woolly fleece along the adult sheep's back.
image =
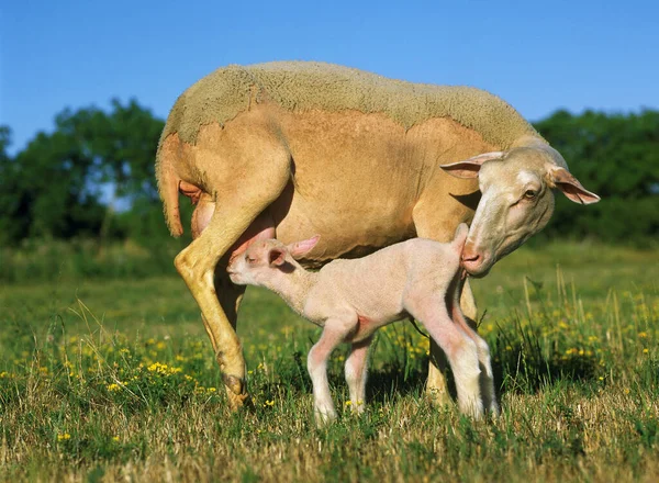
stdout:
<svg viewBox="0 0 659 483">
<path fill-rule="evenodd" d="M 539 137 L 511 105 L 480 89 L 412 83 L 333 64 L 280 61 L 231 65 L 199 80 L 176 101 L 160 142 L 178 133 L 194 144 L 200 126 L 224 124 L 265 102 L 292 112 L 386 113 L 405 128 L 450 117 L 503 149 L 521 136 Z"/>
</svg>

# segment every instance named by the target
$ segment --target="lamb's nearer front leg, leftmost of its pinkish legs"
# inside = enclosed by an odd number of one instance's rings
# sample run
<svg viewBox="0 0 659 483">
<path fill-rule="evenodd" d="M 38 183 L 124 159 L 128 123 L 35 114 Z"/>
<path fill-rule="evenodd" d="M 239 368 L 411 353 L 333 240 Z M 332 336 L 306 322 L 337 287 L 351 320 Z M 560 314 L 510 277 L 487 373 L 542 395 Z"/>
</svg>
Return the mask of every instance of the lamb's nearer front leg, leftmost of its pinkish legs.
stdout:
<svg viewBox="0 0 659 483">
<path fill-rule="evenodd" d="M 313 384 L 314 415 L 319 426 L 336 419 L 327 381 L 327 359 L 356 325 L 357 317 L 353 323 L 340 319 L 327 321 L 321 338 L 309 351 L 306 369 Z"/>
</svg>

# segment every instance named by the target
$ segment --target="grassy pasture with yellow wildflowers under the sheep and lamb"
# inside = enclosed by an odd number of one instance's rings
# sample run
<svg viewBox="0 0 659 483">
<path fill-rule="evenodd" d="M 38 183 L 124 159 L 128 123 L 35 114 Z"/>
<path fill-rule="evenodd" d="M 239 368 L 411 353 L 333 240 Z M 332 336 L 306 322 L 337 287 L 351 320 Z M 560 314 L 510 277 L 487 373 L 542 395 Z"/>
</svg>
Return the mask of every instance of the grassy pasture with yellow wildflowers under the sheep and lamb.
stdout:
<svg viewBox="0 0 659 483">
<path fill-rule="evenodd" d="M 231 413 L 176 277 L 0 285 L 0 481 L 659 481 L 659 250 L 523 247 L 473 282 L 502 415 L 424 396 L 428 341 L 381 330 L 366 412 L 346 350 L 313 424 L 320 330 L 248 290 L 250 407 Z"/>
</svg>

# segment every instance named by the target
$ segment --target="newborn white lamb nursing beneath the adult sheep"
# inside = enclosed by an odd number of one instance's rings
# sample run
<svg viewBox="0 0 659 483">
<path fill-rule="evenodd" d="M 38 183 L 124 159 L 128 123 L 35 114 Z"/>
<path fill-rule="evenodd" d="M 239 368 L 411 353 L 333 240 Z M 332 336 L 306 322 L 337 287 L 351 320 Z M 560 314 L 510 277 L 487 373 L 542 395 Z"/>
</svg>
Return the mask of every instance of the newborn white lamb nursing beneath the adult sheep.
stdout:
<svg viewBox="0 0 659 483">
<path fill-rule="evenodd" d="M 340 342 L 351 344 L 345 374 L 351 407 L 361 412 L 373 333 L 405 317 L 420 321 L 447 355 L 460 411 L 474 418 L 482 416 L 483 406 L 499 413 L 488 344 L 460 310 L 465 280 L 460 254 L 467 233 L 467 225 L 460 224 L 450 243 L 412 238 L 364 258 L 334 260 L 317 272 L 297 260 L 316 245 L 319 236 L 290 245 L 261 240 L 231 260 L 227 272 L 233 283 L 266 287 L 323 327 L 308 357 L 319 425 L 336 418 L 326 373 L 332 351 Z"/>
</svg>

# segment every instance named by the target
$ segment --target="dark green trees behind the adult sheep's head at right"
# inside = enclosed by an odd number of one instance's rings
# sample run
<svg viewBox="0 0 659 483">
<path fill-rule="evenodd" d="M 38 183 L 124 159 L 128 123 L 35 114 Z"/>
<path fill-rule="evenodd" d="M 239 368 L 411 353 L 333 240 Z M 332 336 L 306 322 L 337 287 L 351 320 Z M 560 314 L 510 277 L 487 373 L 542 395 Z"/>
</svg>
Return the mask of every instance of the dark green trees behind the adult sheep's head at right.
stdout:
<svg viewBox="0 0 659 483">
<path fill-rule="evenodd" d="M 634 242 L 659 235 L 659 112 L 557 111 L 536 128 L 602 201 L 582 210 L 558 196 L 546 234 Z"/>
</svg>

